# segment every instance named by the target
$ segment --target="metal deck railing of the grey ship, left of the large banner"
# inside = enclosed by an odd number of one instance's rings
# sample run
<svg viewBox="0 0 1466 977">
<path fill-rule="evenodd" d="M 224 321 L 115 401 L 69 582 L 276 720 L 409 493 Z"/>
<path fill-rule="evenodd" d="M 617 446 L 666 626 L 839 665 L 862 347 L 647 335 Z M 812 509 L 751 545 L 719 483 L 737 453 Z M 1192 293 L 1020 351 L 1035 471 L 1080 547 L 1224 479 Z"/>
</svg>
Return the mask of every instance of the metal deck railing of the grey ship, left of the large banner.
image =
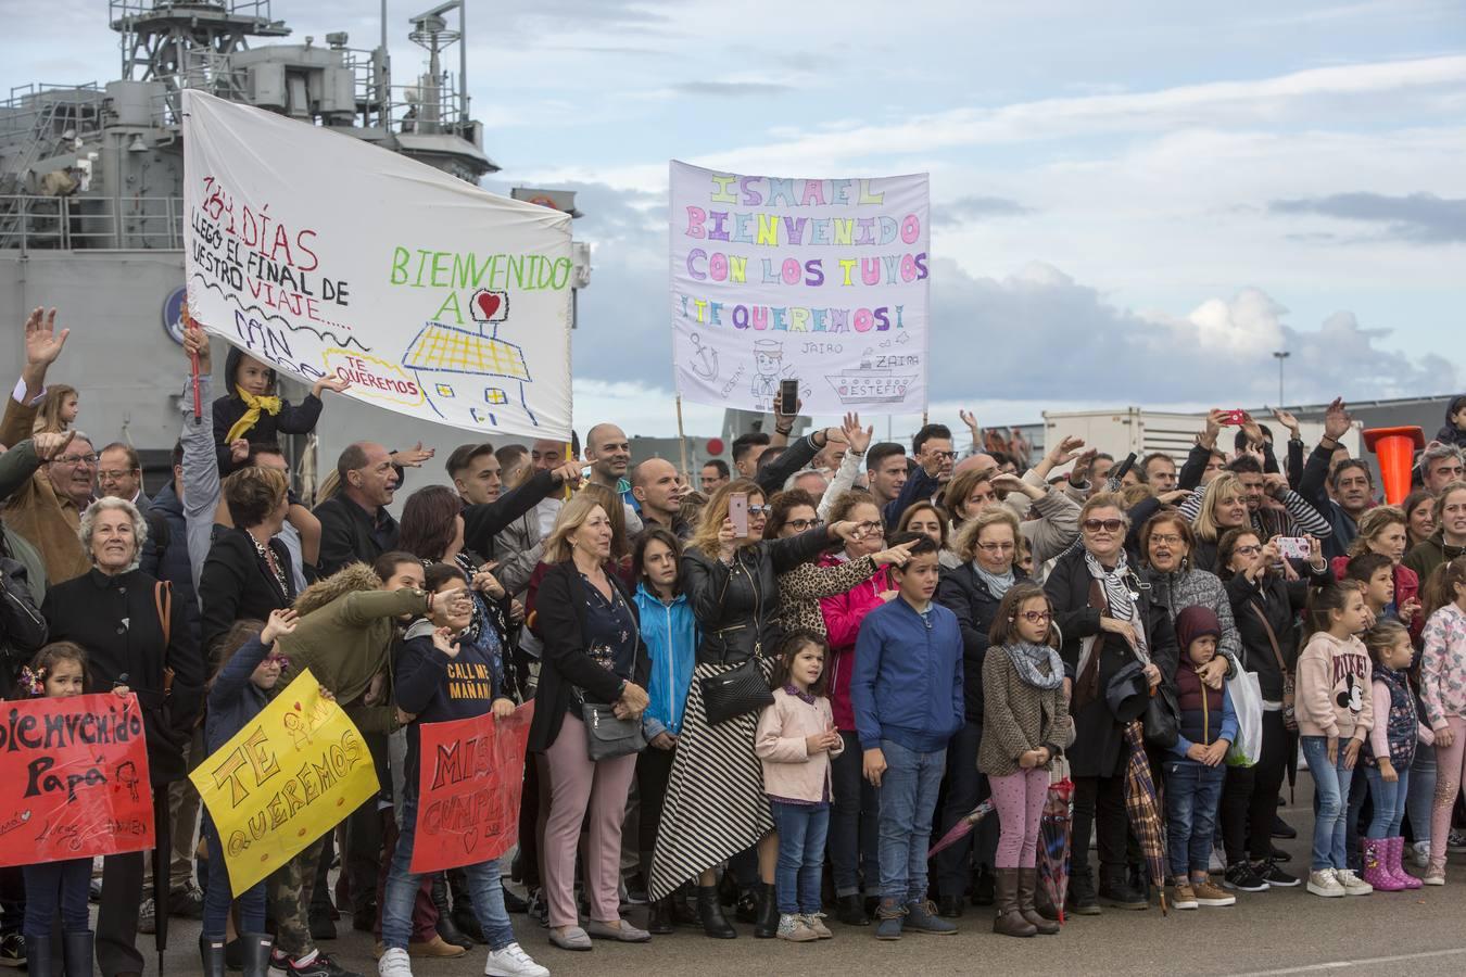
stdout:
<svg viewBox="0 0 1466 977">
<path fill-rule="evenodd" d="M 0 195 L 0 249 L 180 250 L 183 198 Z"/>
</svg>

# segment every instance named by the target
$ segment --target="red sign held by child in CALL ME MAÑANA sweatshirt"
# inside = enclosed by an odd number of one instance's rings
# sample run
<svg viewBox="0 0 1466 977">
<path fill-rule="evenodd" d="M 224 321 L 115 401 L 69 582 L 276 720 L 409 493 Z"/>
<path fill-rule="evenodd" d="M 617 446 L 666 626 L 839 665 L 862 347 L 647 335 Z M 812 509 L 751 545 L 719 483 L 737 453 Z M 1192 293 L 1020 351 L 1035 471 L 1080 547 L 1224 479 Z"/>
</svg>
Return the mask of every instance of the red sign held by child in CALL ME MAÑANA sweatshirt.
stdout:
<svg viewBox="0 0 1466 977">
<path fill-rule="evenodd" d="M 491 713 L 419 729 L 418 831 L 413 873 L 491 861 L 519 839 L 525 746 L 535 703 L 507 719 Z"/>
</svg>

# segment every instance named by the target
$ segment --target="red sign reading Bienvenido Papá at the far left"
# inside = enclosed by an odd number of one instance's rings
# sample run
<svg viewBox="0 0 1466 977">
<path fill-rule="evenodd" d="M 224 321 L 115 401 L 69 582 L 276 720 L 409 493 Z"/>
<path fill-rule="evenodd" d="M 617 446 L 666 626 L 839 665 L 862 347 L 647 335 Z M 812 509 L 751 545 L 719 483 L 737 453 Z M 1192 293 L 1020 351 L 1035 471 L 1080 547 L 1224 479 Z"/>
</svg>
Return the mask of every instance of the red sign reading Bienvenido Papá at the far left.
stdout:
<svg viewBox="0 0 1466 977">
<path fill-rule="evenodd" d="M 0 866 L 152 848 L 136 696 L 0 703 Z"/>
</svg>

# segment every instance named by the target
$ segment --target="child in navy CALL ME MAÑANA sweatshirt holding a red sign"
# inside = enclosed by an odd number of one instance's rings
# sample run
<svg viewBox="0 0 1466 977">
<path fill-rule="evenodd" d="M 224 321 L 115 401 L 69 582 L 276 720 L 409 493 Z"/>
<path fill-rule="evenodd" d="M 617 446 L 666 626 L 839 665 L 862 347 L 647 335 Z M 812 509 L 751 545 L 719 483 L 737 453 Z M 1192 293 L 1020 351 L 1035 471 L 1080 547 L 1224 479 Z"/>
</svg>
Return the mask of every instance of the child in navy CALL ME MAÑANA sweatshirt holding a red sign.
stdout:
<svg viewBox="0 0 1466 977">
<path fill-rule="evenodd" d="M 469 642 L 465 636 L 474 620 L 472 606 L 454 599 L 463 596 L 463 573 L 454 565 L 438 562 L 428 567 L 425 579 L 430 593 L 446 598 L 447 627 L 437 627 L 434 620 L 419 617 L 408 628 L 396 662 L 397 709 L 415 719 L 408 724 L 402 828 L 381 905 L 381 942 L 386 948 L 377 964 L 381 977 L 412 977 L 408 937 L 412 932 L 412 902 L 421 882 L 410 870 L 418 829 L 421 724 L 469 719 L 488 712 L 497 721 L 515 712 L 510 691 L 503 687 L 503 669 L 493 661 L 497 643 Z M 504 910 L 498 863 L 479 861 L 465 866 L 463 872 L 472 891 L 474 913 L 488 940 L 484 973 L 490 977 L 550 977 L 550 971 L 515 942 L 515 930 Z"/>
</svg>

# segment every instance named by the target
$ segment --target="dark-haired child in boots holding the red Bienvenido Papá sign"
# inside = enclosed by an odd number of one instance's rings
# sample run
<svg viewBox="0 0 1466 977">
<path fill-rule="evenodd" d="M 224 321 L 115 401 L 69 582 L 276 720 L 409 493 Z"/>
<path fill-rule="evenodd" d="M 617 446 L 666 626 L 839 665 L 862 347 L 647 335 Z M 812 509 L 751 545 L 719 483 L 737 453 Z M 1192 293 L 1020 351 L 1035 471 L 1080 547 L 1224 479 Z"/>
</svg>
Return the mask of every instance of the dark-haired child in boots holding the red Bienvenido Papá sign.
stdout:
<svg viewBox="0 0 1466 977">
<path fill-rule="evenodd" d="M 70 699 L 86 691 L 86 650 L 72 642 L 53 642 L 21 669 L 21 687 L 32 696 Z M 126 686 L 117 686 L 128 696 Z M 34 977 L 59 973 L 51 965 L 51 920 L 62 911 L 67 974 L 89 974 L 92 932 L 86 915 L 91 858 L 67 858 L 25 866 L 25 956 Z"/>
</svg>

